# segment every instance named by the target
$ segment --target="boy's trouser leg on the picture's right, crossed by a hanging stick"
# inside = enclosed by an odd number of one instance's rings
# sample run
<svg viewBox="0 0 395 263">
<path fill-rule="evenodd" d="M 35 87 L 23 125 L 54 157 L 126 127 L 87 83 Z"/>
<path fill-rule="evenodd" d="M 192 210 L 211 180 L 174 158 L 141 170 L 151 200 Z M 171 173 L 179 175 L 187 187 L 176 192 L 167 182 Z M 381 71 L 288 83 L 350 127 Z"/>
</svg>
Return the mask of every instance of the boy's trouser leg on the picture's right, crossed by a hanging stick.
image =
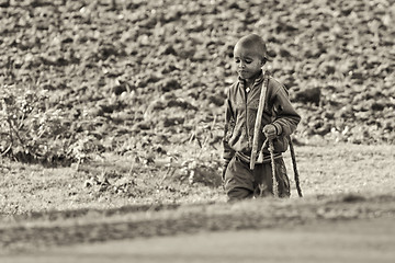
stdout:
<svg viewBox="0 0 395 263">
<path fill-rule="evenodd" d="M 282 158 L 275 159 L 275 179 L 279 184 L 279 197 L 290 197 L 290 180 L 286 175 L 286 168 L 284 160 Z M 273 175 L 271 163 L 258 164 L 253 171 L 256 176 L 256 184 L 253 185 L 256 191 L 256 196 L 260 195 L 262 191 L 262 196 L 273 195 Z M 260 186 L 259 186 L 260 185 Z M 261 188 L 259 188 L 261 187 Z"/>
</svg>

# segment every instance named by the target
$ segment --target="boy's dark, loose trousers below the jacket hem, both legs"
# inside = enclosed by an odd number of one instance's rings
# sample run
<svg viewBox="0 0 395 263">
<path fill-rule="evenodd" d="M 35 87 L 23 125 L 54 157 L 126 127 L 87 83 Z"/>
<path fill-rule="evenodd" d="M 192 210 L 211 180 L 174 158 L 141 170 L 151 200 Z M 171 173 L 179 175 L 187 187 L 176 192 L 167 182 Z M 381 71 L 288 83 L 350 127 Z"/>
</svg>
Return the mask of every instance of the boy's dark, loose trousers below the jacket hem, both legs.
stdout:
<svg viewBox="0 0 395 263">
<path fill-rule="evenodd" d="M 286 175 L 284 160 L 278 158 L 275 163 L 275 179 L 280 197 L 290 197 L 290 180 Z M 225 171 L 225 191 L 229 201 L 251 198 L 253 196 L 273 196 L 273 176 L 271 163 L 256 164 L 253 170 L 249 163 L 234 157 Z"/>
</svg>

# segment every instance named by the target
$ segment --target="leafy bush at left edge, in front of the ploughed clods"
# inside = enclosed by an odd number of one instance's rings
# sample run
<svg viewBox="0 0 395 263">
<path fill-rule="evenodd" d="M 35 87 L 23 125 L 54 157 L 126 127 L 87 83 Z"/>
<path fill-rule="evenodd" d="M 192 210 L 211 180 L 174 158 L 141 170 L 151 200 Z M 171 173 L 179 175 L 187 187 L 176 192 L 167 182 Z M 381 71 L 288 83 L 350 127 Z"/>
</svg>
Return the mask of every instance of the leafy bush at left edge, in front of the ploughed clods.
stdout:
<svg viewBox="0 0 395 263">
<path fill-rule="evenodd" d="M 46 91 L 1 87 L 1 157 L 43 163 L 69 159 L 66 124 L 61 110 L 49 108 Z"/>
</svg>

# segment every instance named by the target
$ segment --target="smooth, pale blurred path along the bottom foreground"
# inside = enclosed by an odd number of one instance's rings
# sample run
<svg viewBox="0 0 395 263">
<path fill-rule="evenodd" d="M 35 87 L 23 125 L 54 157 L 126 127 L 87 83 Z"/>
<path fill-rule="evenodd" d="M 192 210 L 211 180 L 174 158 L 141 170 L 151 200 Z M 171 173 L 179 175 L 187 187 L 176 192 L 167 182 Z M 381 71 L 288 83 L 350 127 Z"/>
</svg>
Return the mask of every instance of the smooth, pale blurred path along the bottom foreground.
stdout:
<svg viewBox="0 0 395 263">
<path fill-rule="evenodd" d="M 394 262 L 393 218 L 205 232 L 64 247 L 0 258 L 22 262 Z"/>
</svg>

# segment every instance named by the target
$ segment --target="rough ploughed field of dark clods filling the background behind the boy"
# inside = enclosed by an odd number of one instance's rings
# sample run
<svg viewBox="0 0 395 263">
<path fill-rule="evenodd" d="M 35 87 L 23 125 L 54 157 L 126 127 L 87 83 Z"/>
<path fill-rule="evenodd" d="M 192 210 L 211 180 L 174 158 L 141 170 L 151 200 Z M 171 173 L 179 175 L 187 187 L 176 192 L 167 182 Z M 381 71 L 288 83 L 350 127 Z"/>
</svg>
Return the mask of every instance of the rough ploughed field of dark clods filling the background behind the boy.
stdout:
<svg viewBox="0 0 395 263">
<path fill-rule="evenodd" d="M 1 153 L 219 156 L 250 33 L 303 117 L 295 140 L 393 144 L 394 15 L 390 0 L 0 0 Z"/>
</svg>

